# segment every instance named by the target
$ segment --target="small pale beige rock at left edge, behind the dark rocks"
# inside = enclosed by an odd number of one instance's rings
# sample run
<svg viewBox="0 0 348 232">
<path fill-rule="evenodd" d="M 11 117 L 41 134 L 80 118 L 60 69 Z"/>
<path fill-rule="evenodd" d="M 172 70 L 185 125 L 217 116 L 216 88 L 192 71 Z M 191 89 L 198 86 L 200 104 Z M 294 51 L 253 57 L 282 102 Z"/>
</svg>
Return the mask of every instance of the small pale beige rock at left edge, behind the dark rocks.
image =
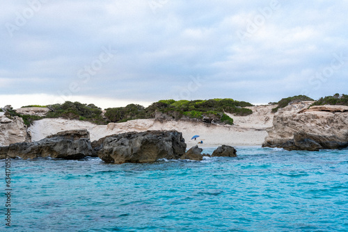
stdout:
<svg viewBox="0 0 348 232">
<path fill-rule="evenodd" d="M 0 146 L 8 146 L 16 142 L 30 142 L 23 119 L 0 116 Z"/>
</svg>

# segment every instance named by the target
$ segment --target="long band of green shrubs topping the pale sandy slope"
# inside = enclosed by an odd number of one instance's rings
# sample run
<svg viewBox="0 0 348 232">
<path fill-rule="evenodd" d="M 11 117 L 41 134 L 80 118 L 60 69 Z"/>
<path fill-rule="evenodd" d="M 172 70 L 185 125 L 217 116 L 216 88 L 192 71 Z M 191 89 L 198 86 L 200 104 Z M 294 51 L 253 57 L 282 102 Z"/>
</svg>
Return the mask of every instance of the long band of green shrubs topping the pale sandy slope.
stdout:
<svg viewBox="0 0 348 232">
<path fill-rule="evenodd" d="M 49 112 L 45 117 L 36 115 L 21 115 L 13 108 L 7 110 L 6 116 L 22 117 L 24 124 L 30 126 L 35 120 L 43 118 L 64 118 L 77 119 L 81 121 L 92 122 L 94 124 L 108 124 L 109 122 L 127 122 L 134 119 L 188 119 L 200 120 L 203 122 L 216 122 L 223 124 L 233 124 L 233 119 L 226 113 L 234 115 L 250 115 L 252 110 L 244 108 L 253 106 L 246 101 L 235 101 L 233 99 L 209 99 L 175 101 L 173 99 L 161 100 L 152 103 L 145 108 L 137 104 L 129 104 L 125 107 L 106 108 L 104 114 L 102 109 L 94 104 L 79 103 L 78 101 L 65 101 L 62 104 L 49 106 L 29 105 L 29 107 L 46 107 Z M 158 116 L 160 115 L 160 116 Z"/>
</svg>

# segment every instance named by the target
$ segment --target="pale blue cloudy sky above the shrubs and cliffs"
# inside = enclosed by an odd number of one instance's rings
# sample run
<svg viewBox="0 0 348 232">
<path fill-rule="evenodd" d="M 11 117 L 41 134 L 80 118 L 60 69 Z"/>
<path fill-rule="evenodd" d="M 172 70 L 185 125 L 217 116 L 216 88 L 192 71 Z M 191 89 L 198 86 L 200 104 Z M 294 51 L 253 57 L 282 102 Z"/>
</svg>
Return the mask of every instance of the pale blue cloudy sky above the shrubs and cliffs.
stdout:
<svg viewBox="0 0 348 232">
<path fill-rule="evenodd" d="M 348 1 L 2 1 L 0 106 L 348 94 Z"/>
</svg>

